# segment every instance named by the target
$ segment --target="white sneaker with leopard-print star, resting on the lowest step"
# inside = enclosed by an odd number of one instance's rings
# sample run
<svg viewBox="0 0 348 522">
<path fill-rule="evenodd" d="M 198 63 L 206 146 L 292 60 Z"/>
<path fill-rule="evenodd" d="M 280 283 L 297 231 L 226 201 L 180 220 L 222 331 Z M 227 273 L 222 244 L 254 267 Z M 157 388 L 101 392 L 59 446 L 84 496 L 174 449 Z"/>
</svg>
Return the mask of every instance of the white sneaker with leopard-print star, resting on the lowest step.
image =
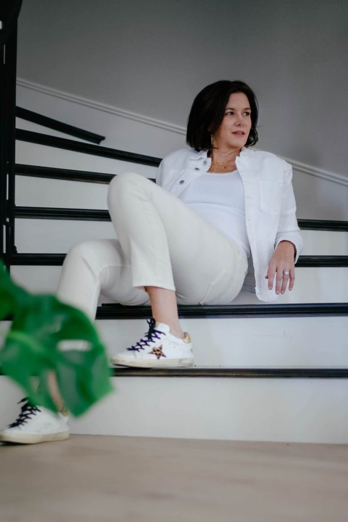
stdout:
<svg viewBox="0 0 348 522">
<path fill-rule="evenodd" d="M 190 336 L 179 339 L 170 333 L 170 327 L 163 323 L 148 321 L 149 331 L 145 339 L 127 350 L 112 355 L 112 364 L 136 366 L 139 368 L 182 367 L 194 364 L 194 354 Z"/>
</svg>

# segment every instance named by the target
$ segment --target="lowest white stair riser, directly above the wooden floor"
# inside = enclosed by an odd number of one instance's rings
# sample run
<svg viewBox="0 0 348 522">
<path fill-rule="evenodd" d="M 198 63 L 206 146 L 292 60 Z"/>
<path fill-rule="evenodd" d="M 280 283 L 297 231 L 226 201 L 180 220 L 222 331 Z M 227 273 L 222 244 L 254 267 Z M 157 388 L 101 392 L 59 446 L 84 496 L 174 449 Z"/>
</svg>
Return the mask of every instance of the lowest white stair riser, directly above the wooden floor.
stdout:
<svg viewBox="0 0 348 522">
<path fill-rule="evenodd" d="M 72 433 L 298 443 L 348 443 L 347 379 L 113 379 L 116 391 Z M 21 390 L 0 377 L 0 419 L 17 417 Z M 135 441 L 136 444 L 136 441 Z"/>
</svg>

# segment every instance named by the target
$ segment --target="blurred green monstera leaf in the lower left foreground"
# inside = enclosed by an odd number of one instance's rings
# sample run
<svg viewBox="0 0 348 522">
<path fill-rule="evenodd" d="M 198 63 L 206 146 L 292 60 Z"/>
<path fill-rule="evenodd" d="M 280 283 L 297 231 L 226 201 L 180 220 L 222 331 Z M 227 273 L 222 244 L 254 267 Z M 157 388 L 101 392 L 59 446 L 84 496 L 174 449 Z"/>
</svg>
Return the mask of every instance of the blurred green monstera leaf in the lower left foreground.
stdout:
<svg viewBox="0 0 348 522">
<path fill-rule="evenodd" d="M 0 319 L 9 314 L 13 322 L 0 350 L 0 366 L 34 404 L 56 411 L 47 385 L 51 372 L 75 416 L 111 392 L 105 349 L 89 318 L 54 295 L 26 292 L 0 262 Z M 40 377 L 39 389 L 33 376 Z"/>
</svg>

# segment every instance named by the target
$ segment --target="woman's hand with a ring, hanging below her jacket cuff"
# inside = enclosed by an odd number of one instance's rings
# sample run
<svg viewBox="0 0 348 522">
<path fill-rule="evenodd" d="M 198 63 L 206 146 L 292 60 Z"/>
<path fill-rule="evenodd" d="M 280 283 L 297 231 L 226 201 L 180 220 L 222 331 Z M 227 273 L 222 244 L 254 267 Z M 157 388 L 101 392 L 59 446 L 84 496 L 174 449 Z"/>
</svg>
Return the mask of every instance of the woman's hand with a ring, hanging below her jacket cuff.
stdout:
<svg viewBox="0 0 348 522">
<path fill-rule="evenodd" d="M 281 241 L 268 264 L 267 276 L 268 288 L 272 290 L 275 277 L 275 293 L 284 293 L 289 281 L 289 290 L 293 289 L 295 282 L 295 258 L 296 248 L 290 241 Z M 285 272 L 285 274 L 283 273 Z M 289 275 L 286 275 L 289 272 Z"/>
</svg>

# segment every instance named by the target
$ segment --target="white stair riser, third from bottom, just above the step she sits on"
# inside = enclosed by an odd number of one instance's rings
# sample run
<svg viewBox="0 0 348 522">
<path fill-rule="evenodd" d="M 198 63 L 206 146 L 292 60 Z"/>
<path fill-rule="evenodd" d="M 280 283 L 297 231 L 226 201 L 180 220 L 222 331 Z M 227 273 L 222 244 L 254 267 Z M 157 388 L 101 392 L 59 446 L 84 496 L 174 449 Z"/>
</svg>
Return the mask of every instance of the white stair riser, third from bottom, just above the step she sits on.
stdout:
<svg viewBox="0 0 348 522">
<path fill-rule="evenodd" d="M 34 236 L 34 235 L 33 235 Z M 44 244 L 44 239 L 42 244 Z M 58 247 L 57 247 L 58 250 Z M 21 252 L 21 250 L 19 250 Z M 54 293 L 57 288 L 60 266 L 13 266 L 11 275 L 28 290 Z M 286 291 L 274 303 L 344 303 L 348 295 L 348 267 L 299 267 L 291 292 Z M 112 302 L 101 296 L 100 303 Z M 254 293 L 241 292 L 233 304 L 262 304 Z"/>
</svg>

